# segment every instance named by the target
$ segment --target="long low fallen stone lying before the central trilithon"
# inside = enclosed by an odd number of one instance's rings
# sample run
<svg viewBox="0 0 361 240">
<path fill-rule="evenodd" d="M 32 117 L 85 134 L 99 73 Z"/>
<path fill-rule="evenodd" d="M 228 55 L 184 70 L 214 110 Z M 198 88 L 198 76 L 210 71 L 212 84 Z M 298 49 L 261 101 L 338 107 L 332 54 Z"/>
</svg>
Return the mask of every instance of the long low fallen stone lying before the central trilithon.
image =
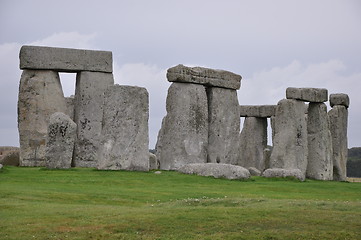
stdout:
<svg viewBox="0 0 361 240">
<path fill-rule="evenodd" d="M 248 179 L 251 176 L 246 168 L 223 163 L 186 164 L 179 167 L 177 171 L 185 174 L 226 179 Z"/>
</svg>

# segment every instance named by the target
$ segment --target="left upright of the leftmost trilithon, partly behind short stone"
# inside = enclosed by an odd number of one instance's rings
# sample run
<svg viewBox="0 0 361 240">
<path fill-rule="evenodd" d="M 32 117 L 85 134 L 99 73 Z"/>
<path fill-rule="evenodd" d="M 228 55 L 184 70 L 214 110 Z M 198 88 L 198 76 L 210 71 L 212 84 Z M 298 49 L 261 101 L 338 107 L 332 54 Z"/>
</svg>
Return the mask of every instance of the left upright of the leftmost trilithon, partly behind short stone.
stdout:
<svg viewBox="0 0 361 240">
<path fill-rule="evenodd" d="M 24 70 L 18 100 L 21 166 L 45 166 L 49 117 L 55 112 L 66 112 L 59 74 Z"/>
</svg>

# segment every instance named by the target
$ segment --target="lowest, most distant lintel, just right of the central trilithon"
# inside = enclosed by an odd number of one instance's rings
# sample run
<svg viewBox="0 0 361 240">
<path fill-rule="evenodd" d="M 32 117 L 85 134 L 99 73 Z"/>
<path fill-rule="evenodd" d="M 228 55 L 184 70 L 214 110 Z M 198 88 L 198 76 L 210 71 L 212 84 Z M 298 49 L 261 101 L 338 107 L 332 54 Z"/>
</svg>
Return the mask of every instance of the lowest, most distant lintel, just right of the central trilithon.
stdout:
<svg viewBox="0 0 361 240">
<path fill-rule="evenodd" d="M 241 105 L 239 112 L 241 117 L 269 118 L 275 115 L 277 105 Z"/>
</svg>

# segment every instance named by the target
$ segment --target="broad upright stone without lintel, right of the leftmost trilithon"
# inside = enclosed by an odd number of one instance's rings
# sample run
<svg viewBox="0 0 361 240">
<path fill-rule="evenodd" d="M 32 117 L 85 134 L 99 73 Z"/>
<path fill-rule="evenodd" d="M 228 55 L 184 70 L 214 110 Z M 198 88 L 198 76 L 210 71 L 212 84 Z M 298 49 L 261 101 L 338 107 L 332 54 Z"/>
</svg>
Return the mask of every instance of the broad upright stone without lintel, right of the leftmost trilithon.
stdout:
<svg viewBox="0 0 361 240">
<path fill-rule="evenodd" d="M 148 92 L 115 85 L 105 92 L 98 169 L 149 170 Z"/>
</svg>

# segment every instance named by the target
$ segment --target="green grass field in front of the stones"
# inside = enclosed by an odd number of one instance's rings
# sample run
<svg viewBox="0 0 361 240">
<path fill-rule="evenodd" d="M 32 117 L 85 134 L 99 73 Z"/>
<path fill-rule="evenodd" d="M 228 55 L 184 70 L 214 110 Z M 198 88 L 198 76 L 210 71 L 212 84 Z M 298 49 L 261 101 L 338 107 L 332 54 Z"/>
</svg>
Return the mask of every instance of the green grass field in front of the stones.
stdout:
<svg viewBox="0 0 361 240">
<path fill-rule="evenodd" d="M 361 183 L 0 172 L 0 239 L 360 239 Z"/>
</svg>

